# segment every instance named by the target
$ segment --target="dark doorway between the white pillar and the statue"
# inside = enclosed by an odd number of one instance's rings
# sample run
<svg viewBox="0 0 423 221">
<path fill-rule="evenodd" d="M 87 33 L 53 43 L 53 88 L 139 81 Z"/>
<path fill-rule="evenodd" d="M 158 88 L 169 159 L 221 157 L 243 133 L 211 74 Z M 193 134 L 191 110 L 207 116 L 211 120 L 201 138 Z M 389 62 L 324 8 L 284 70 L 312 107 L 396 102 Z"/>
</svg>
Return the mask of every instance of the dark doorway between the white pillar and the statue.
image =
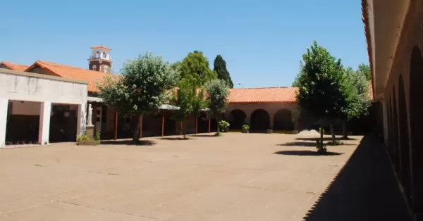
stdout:
<svg viewBox="0 0 423 221">
<path fill-rule="evenodd" d="M 71 108 L 72 107 L 72 108 Z M 75 142 L 78 106 L 53 104 L 50 117 L 50 142 Z"/>
</svg>

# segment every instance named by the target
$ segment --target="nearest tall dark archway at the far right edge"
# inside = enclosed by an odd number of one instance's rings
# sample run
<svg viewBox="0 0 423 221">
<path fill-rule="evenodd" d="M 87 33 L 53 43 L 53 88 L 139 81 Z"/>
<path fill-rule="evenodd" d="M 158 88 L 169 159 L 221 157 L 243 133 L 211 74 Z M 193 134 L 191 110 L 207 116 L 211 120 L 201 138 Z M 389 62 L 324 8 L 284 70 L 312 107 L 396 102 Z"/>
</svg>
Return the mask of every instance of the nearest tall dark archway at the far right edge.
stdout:
<svg viewBox="0 0 423 221">
<path fill-rule="evenodd" d="M 418 46 L 412 49 L 410 61 L 410 139 L 412 160 L 413 207 L 415 213 L 423 213 L 423 58 Z"/>
</svg>

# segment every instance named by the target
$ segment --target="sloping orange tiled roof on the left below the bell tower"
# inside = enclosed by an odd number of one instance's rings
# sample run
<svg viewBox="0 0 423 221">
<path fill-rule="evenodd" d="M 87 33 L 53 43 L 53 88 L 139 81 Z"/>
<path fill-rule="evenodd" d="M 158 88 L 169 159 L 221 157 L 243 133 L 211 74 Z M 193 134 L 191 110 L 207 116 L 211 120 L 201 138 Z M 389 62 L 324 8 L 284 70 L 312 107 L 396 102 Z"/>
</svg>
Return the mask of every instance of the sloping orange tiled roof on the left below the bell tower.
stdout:
<svg viewBox="0 0 423 221">
<path fill-rule="evenodd" d="M 86 70 L 82 68 L 75 68 L 68 65 L 61 65 L 58 63 L 51 63 L 47 61 L 37 61 L 25 71 L 30 71 L 32 68 L 38 66 L 48 72 L 51 72 L 52 75 L 59 77 L 74 79 L 74 80 L 84 80 L 88 82 L 88 91 L 98 92 L 96 82 L 102 82 L 106 74 L 104 72 Z"/>
</svg>

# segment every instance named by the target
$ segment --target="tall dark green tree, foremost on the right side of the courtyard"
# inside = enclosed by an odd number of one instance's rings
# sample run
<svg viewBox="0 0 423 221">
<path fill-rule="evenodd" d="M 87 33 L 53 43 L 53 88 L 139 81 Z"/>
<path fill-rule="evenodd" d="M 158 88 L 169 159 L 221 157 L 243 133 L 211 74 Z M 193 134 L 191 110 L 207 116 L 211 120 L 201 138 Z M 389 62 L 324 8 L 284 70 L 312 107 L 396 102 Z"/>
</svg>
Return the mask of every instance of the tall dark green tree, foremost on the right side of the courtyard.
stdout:
<svg viewBox="0 0 423 221">
<path fill-rule="evenodd" d="M 343 66 L 341 60 L 331 56 L 329 51 L 317 42 L 302 55 L 298 80 L 297 101 L 301 110 L 312 115 L 321 125 L 318 151 L 326 151 L 323 146 L 323 128 L 340 119 L 345 106 L 343 94 Z"/>
</svg>

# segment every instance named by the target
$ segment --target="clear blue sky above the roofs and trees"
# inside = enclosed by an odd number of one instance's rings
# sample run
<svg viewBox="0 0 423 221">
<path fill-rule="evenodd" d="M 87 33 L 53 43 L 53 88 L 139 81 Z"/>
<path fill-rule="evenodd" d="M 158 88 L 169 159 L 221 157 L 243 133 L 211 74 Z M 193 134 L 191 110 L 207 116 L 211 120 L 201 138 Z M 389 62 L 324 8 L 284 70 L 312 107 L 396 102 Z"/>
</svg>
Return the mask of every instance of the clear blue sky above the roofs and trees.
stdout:
<svg viewBox="0 0 423 221">
<path fill-rule="evenodd" d="M 0 61 L 87 68 L 90 46 L 111 47 L 112 69 L 151 51 L 181 61 L 226 60 L 235 86 L 290 86 L 313 40 L 345 66 L 368 63 L 359 0 L 4 1 Z M 239 87 L 239 86 L 238 86 Z"/>
</svg>

